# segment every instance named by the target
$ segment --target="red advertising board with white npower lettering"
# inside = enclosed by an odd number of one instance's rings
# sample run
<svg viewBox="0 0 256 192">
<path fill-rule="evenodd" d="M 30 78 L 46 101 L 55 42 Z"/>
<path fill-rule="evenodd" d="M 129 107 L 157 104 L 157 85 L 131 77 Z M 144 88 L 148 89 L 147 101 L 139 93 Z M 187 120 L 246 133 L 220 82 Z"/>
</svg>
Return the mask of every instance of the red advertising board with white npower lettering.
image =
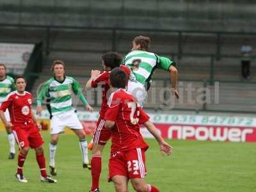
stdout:
<svg viewBox="0 0 256 192">
<path fill-rule="evenodd" d="M 155 124 L 163 138 L 174 140 L 256 142 L 256 129 L 211 125 Z M 147 135 L 145 128 L 141 134 Z M 148 137 L 148 136 L 147 136 Z"/>
</svg>

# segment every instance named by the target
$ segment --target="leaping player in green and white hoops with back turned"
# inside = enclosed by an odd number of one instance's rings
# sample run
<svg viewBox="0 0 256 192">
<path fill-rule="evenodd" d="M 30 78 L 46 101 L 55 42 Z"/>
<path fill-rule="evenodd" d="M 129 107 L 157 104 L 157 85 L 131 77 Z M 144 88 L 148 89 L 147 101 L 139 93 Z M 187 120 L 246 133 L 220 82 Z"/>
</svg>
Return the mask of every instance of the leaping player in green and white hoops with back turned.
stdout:
<svg viewBox="0 0 256 192">
<path fill-rule="evenodd" d="M 175 62 L 158 56 L 154 52 L 148 52 L 149 45 L 149 37 L 136 36 L 132 41 L 132 51 L 122 61 L 123 65 L 131 68 L 127 92 L 131 93 L 138 100 L 138 103 L 143 106 L 147 99 L 147 91 L 150 87 L 154 70 L 161 68 L 170 72 L 172 92 L 179 99 L 179 93 L 177 92 L 178 70 L 175 67 Z"/>
</svg>

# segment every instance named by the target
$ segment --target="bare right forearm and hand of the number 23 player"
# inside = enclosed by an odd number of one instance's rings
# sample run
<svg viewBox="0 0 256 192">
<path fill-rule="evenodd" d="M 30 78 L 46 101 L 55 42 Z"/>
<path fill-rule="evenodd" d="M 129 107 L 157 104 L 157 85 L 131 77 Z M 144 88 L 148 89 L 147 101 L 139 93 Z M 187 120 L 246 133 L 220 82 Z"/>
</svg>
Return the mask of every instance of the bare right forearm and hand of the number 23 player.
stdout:
<svg viewBox="0 0 256 192">
<path fill-rule="evenodd" d="M 169 156 L 172 153 L 173 147 L 164 141 L 164 139 L 159 134 L 155 125 L 152 124 L 152 122 L 147 121 L 147 122 L 145 122 L 144 125 L 145 125 L 145 127 L 147 127 L 148 131 L 154 136 L 154 138 L 156 138 L 156 140 L 160 146 L 161 154 L 166 153 Z"/>
</svg>

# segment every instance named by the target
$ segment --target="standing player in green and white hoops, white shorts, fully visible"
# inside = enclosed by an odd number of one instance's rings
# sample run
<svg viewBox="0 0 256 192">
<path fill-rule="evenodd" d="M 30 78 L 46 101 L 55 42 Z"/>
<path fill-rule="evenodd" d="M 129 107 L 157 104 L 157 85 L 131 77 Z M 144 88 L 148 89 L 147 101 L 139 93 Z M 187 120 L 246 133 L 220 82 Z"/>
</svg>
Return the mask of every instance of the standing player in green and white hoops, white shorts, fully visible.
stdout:
<svg viewBox="0 0 256 192">
<path fill-rule="evenodd" d="M 83 167 L 91 169 L 88 161 L 86 134 L 83 125 L 77 118 L 76 109 L 72 107 L 72 92 L 83 102 L 87 111 L 92 112 L 93 109 L 84 98 L 80 84 L 74 78 L 65 76 L 63 61 L 54 61 L 52 72 L 54 77 L 44 83 L 36 99 L 36 113 L 40 114 L 42 112 L 42 100 L 47 98 L 47 109 L 51 115 L 51 143 L 49 145 L 51 174 L 57 174 L 55 169 L 56 147 L 59 134 L 64 131 L 66 126 L 72 129 L 79 138 Z"/>
</svg>

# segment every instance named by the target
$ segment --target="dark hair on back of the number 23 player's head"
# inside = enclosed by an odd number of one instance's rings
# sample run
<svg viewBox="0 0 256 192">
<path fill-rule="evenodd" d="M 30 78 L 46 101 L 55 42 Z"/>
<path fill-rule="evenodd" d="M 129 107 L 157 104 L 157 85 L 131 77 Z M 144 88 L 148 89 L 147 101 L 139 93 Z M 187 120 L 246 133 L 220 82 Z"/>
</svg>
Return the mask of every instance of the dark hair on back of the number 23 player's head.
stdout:
<svg viewBox="0 0 256 192">
<path fill-rule="evenodd" d="M 125 88 L 127 76 L 122 68 L 116 67 L 110 72 L 109 80 L 115 88 Z"/>
</svg>

